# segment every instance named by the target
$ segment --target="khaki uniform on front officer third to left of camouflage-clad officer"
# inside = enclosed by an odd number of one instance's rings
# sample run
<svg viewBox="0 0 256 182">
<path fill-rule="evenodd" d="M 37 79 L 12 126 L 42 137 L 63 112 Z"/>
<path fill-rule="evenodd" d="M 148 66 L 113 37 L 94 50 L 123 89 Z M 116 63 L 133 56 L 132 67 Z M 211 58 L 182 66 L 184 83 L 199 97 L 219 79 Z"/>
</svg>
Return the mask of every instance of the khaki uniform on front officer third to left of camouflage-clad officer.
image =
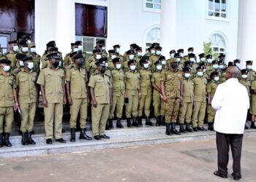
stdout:
<svg viewBox="0 0 256 182">
<path fill-rule="evenodd" d="M 140 89 L 140 74 L 138 72 L 127 71 L 124 76 L 125 89 L 129 104 L 125 107 L 125 115 L 127 118 L 138 116 L 138 96 Z"/>
</svg>

